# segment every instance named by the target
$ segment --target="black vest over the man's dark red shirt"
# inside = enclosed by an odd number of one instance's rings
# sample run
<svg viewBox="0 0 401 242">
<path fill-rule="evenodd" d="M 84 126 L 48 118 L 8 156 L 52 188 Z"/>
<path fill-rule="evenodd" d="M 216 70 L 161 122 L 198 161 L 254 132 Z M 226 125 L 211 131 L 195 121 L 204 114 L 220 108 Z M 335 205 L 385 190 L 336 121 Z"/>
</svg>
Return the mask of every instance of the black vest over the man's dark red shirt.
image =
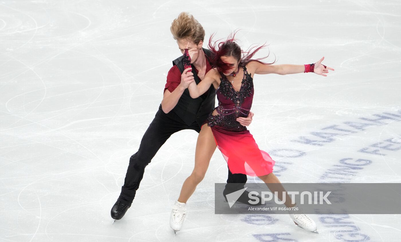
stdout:
<svg viewBox="0 0 401 242">
<path fill-rule="evenodd" d="M 208 59 L 211 58 L 212 52 L 203 48 L 203 52 L 205 52 Z M 182 73 L 184 71 L 184 65 L 182 64 L 182 59 L 184 56 L 176 58 L 173 60 L 173 66 L 177 65 L 178 69 Z M 198 75 L 196 75 L 195 67 L 192 66 L 192 73 L 194 73 L 195 83 L 199 83 Z M 206 73 L 205 73 L 206 75 Z M 215 97 L 216 92 L 213 85 L 210 85 L 209 90 L 197 98 L 192 98 L 189 95 L 188 89 L 184 90 L 180 99 L 178 100 L 177 105 L 166 115 L 180 123 L 185 123 L 186 125 L 191 125 L 194 121 L 196 121 L 199 126 L 201 126 L 209 113 L 215 108 Z M 160 105 L 161 107 L 161 105 Z"/>
</svg>

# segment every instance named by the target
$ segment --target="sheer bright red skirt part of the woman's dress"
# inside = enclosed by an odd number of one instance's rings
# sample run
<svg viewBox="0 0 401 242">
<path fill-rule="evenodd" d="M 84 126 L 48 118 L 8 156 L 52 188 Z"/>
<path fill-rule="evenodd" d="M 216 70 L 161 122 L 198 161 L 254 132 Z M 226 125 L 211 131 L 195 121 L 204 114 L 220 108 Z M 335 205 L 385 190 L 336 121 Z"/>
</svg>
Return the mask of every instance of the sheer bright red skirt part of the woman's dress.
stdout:
<svg viewBox="0 0 401 242">
<path fill-rule="evenodd" d="M 211 129 L 231 173 L 262 176 L 273 171 L 275 161 L 267 152 L 259 149 L 249 130 L 229 131 L 219 125 Z"/>
</svg>

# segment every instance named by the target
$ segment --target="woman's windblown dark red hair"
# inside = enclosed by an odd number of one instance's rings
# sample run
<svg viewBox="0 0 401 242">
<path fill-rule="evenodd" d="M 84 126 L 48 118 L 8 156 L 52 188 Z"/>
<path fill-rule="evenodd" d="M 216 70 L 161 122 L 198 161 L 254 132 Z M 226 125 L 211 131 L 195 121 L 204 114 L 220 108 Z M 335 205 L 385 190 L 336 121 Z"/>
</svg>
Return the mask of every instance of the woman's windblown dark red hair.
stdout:
<svg viewBox="0 0 401 242">
<path fill-rule="evenodd" d="M 241 50 L 241 47 L 235 42 L 235 34 L 237 34 L 238 30 L 231 33 L 228 37 L 227 40 L 221 41 L 222 39 L 213 41 L 213 36 L 215 34 L 212 34 L 209 38 L 209 44 L 208 48 L 213 52 L 213 58 L 211 60 L 212 62 L 212 67 L 216 68 L 217 71 L 221 73 L 228 73 L 232 67 L 228 64 L 225 63 L 223 60 L 221 60 L 221 56 L 233 56 L 238 62 L 239 66 L 245 66 L 251 61 L 257 61 L 259 63 L 263 63 L 266 65 L 270 65 L 275 63 L 275 58 L 272 63 L 265 63 L 261 60 L 267 58 L 269 55 L 263 57 L 263 58 L 258 58 L 258 59 L 252 59 L 252 57 L 258 52 L 261 48 L 266 47 L 266 44 L 263 44 L 261 46 L 252 46 L 249 48 L 247 51 Z M 220 42 L 219 42 L 220 41 Z M 219 42 L 219 43 L 217 43 Z M 242 56 L 242 58 L 241 58 Z"/>
</svg>

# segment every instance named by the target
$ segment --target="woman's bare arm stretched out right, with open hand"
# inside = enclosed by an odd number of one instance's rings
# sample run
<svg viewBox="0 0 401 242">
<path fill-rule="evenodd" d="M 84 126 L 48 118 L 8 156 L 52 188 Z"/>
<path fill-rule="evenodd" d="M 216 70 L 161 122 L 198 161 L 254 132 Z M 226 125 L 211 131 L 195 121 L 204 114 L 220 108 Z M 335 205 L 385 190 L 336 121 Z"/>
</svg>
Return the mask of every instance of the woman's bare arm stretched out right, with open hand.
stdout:
<svg viewBox="0 0 401 242">
<path fill-rule="evenodd" d="M 325 73 L 328 73 L 328 70 L 334 71 L 331 67 L 326 67 L 322 65 L 321 58 L 318 62 L 314 63 L 314 69 L 312 71 L 318 75 L 322 75 L 327 77 Z M 255 74 L 279 74 L 279 75 L 287 75 L 287 74 L 295 74 L 295 73 L 303 73 L 305 72 L 305 65 L 292 65 L 292 64 L 282 64 L 282 65 L 266 65 L 263 63 L 259 63 L 257 61 L 251 61 L 248 64 L 249 71 L 253 70 Z"/>
</svg>

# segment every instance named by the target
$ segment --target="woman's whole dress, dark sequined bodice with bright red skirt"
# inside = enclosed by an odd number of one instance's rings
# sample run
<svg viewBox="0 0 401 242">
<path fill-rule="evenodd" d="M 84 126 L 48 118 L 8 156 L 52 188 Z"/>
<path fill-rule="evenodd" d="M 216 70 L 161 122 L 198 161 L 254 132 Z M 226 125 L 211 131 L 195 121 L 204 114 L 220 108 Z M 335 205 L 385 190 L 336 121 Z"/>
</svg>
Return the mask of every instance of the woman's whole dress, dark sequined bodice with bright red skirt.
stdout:
<svg viewBox="0 0 401 242">
<path fill-rule="evenodd" d="M 248 116 L 254 93 L 253 79 L 246 67 L 242 68 L 244 77 L 238 92 L 220 73 L 221 83 L 216 90 L 219 105 L 215 108 L 218 114 L 213 116 L 213 112 L 210 113 L 206 122 L 232 173 L 267 175 L 273 171 L 275 161 L 259 149 L 249 130 L 236 121 L 237 117 Z"/>
</svg>

